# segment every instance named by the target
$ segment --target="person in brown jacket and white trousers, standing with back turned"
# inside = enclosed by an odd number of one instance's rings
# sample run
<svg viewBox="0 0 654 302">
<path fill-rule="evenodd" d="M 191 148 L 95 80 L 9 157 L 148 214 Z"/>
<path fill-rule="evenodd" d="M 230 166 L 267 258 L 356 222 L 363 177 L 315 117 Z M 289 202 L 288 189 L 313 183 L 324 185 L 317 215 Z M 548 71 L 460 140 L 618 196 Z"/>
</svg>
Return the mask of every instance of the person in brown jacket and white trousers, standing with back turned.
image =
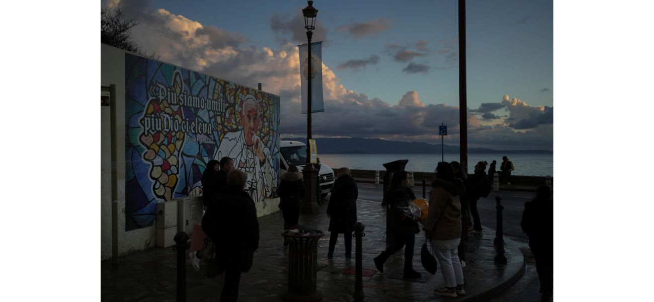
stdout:
<svg viewBox="0 0 654 302">
<path fill-rule="evenodd" d="M 445 280 L 444 286 L 434 289 L 434 294 L 446 297 L 466 294 L 456 248 L 461 241 L 461 192 L 462 187 L 455 182 L 452 165 L 442 161 L 438 163 L 423 229 L 432 243 L 434 256 Z"/>
</svg>

